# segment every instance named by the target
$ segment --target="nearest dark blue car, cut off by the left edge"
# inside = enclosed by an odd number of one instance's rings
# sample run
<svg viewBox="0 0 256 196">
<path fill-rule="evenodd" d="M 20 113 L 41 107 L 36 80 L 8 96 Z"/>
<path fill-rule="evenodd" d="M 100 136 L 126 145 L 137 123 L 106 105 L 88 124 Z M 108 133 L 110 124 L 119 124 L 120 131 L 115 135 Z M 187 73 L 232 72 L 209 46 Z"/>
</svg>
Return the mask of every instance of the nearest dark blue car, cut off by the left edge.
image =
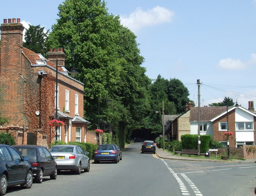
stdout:
<svg viewBox="0 0 256 196">
<path fill-rule="evenodd" d="M 4 195 L 9 186 L 20 184 L 31 188 L 32 168 L 27 161 L 28 157 L 21 157 L 13 147 L 0 144 L 0 195 Z"/>
</svg>

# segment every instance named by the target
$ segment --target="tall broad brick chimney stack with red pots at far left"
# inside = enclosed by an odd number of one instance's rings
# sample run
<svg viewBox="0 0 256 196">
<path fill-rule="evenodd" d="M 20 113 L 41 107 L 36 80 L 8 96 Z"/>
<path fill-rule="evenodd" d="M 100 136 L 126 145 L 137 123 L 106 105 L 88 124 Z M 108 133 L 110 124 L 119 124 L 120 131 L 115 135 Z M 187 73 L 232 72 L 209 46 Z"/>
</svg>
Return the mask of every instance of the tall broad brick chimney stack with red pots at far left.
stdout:
<svg viewBox="0 0 256 196">
<path fill-rule="evenodd" d="M 20 19 L 4 19 L 0 26 L 1 51 L 0 51 L 0 75 L 19 74 L 21 64 L 22 37 L 24 26 Z M 8 66 L 7 66 L 8 65 Z"/>
</svg>

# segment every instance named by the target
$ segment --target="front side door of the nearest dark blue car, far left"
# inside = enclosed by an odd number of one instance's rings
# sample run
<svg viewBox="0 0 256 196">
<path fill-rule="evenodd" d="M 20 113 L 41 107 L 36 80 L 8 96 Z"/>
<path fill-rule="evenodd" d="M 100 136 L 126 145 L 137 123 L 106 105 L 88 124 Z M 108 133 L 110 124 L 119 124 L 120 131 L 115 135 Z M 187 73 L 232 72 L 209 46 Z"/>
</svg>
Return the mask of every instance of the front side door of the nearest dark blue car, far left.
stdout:
<svg viewBox="0 0 256 196">
<path fill-rule="evenodd" d="M 22 158 L 20 154 L 12 147 L 7 147 L 8 151 L 12 155 L 12 160 L 14 161 L 13 167 L 16 170 L 16 180 L 20 182 L 24 182 L 26 178 L 26 174 L 28 171 L 28 163 L 21 161 Z"/>
</svg>

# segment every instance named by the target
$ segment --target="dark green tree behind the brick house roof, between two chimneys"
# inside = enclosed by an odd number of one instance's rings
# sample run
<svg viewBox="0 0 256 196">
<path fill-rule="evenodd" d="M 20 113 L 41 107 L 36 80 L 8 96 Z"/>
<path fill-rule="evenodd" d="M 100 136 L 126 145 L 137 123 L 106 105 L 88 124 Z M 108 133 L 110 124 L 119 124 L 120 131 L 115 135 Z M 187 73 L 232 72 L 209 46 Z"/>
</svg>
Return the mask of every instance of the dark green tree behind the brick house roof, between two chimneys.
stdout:
<svg viewBox="0 0 256 196">
<path fill-rule="evenodd" d="M 46 44 L 48 33 L 49 30 L 45 31 L 44 27 L 40 27 L 40 25 L 29 25 L 29 28 L 25 33 L 25 42 L 23 43 L 23 46 L 35 53 L 44 54 L 45 49 L 43 48 L 43 45 Z"/>
</svg>

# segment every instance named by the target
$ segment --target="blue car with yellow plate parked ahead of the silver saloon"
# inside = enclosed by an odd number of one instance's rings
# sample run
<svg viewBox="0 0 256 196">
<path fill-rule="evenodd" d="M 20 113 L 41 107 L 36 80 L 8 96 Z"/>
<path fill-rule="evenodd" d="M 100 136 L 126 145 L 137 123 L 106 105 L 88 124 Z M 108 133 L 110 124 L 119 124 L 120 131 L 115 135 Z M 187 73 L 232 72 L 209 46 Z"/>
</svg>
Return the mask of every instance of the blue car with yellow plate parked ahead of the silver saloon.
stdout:
<svg viewBox="0 0 256 196">
<path fill-rule="evenodd" d="M 101 144 L 94 152 L 94 163 L 100 161 L 114 161 L 118 163 L 120 161 L 120 155 L 114 144 Z"/>
</svg>

